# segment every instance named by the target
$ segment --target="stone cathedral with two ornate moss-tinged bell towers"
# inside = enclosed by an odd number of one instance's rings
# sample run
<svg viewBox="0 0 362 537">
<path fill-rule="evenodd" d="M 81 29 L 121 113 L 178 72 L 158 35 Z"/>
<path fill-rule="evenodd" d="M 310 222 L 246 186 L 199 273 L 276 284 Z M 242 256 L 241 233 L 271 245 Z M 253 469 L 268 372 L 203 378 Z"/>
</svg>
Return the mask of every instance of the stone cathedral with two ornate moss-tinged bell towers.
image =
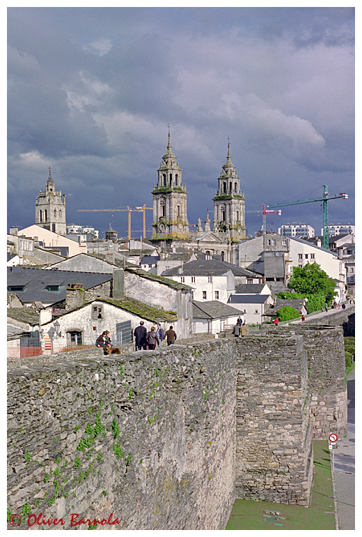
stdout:
<svg viewBox="0 0 362 537">
<path fill-rule="evenodd" d="M 200 250 L 207 255 L 219 255 L 230 263 L 237 262 L 237 244 L 245 238 L 246 231 L 245 198 L 240 190 L 240 178 L 231 162 L 230 143 L 213 198 L 212 229 L 208 211 L 204 228 L 201 218 L 198 218 L 196 229 L 189 229 L 186 185 L 182 182 L 182 170 L 172 151 L 169 132 L 167 151 L 157 173 L 158 181 L 152 190 L 151 241 L 160 245 L 173 243 L 189 250 Z"/>
</svg>

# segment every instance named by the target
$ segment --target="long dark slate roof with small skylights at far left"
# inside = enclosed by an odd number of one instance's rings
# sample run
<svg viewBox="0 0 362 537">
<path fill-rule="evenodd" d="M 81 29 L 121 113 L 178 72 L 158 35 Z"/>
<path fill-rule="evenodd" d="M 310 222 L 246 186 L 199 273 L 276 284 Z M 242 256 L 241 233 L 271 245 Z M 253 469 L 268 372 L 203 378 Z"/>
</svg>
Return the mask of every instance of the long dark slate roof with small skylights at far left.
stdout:
<svg viewBox="0 0 362 537">
<path fill-rule="evenodd" d="M 8 267 L 8 285 L 23 285 L 24 291 L 14 291 L 22 302 L 54 303 L 65 299 L 70 283 L 81 283 L 91 289 L 112 280 L 112 274 L 95 272 L 59 271 L 57 269 L 29 269 L 22 266 Z M 58 291 L 48 291 L 48 285 L 58 285 Z"/>
</svg>

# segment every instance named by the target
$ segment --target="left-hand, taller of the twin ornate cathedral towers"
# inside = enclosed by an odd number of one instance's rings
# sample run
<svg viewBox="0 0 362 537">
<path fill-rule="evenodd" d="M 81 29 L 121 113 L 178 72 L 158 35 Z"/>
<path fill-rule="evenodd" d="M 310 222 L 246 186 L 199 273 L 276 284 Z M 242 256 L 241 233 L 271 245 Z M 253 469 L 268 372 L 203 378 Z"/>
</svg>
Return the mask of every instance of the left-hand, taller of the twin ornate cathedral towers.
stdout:
<svg viewBox="0 0 362 537">
<path fill-rule="evenodd" d="M 158 182 L 152 190 L 152 239 L 187 239 L 187 191 L 182 183 L 182 170 L 171 150 L 169 129 L 167 151 L 157 172 Z"/>
</svg>

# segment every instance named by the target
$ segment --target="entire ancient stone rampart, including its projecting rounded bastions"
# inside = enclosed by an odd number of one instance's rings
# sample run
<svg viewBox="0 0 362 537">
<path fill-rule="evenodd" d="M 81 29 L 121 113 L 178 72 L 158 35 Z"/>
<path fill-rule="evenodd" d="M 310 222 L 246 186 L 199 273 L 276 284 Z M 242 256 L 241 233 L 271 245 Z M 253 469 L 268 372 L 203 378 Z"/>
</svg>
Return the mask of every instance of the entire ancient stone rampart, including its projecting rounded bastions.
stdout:
<svg viewBox="0 0 362 537">
<path fill-rule="evenodd" d="M 312 435 L 344 434 L 343 361 L 333 326 L 9 361 L 8 529 L 217 530 L 235 496 L 306 506 Z"/>
</svg>

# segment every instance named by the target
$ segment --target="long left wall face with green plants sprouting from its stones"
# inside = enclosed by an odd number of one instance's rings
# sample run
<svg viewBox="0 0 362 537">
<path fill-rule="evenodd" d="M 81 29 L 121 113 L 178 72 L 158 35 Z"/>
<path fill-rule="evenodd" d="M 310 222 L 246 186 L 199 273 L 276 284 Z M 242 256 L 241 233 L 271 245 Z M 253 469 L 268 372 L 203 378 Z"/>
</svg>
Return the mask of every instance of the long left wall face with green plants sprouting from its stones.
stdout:
<svg viewBox="0 0 362 537">
<path fill-rule="evenodd" d="M 120 524 L 104 529 L 224 529 L 234 501 L 234 349 L 213 340 L 13 363 L 10 512 L 62 519 L 56 529 L 70 529 L 74 513 L 113 513 Z"/>
</svg>

